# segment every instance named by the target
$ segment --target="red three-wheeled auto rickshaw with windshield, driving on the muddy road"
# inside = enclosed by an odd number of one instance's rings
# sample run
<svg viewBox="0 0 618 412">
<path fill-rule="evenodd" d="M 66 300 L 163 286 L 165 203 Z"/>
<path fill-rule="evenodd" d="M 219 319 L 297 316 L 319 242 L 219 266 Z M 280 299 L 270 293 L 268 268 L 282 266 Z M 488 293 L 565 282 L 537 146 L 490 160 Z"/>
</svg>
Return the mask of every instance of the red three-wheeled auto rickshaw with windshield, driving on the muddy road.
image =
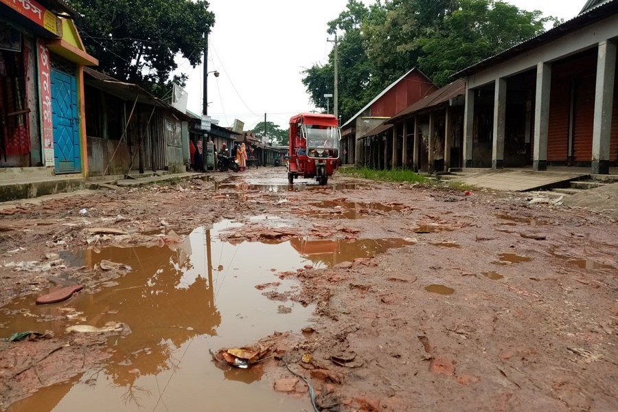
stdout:
<svg viewBox="0 0 618 412">
<path fill-rule="evenodd" d="M 288 182 L 314 177 L 320 185 L 339 168 L 339 121 L 334 115 L 300 113 L 290 119 Z"/>
</svg>

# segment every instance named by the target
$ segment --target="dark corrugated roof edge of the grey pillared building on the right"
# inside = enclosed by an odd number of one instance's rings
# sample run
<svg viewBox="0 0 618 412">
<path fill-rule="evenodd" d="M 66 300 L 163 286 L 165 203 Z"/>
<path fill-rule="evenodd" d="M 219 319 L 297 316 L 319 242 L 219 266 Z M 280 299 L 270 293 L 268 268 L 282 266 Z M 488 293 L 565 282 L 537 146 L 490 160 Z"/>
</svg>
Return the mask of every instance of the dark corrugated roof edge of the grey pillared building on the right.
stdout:
<svg viewBox="0 0 618 412">
<path fill-rule="evenodd" d="M 531 49 L 535 49 L 540 45 L 556 40 L 557 38 L 560 38 L 565 34 L 569 34 L 570 32 L 574 32 L 575 30 L 578 30 L 586 25 L 591 25 L 606 18 L 607 16 L 610 16 L 611 14 L 615 14 L 616 12 L 618 12 L 618 0 L 588 0 L 588 3 L 586 3 L 582 9 L 582 12 L 573 17 L 573 19 L 565 21 L 561 25 L 553 27 L 552 29 L 547 30 L 547 32 L 539 34 L 536 37 L 529 38 L 527 41 L 514 45 L 513 47 L 510 47 L 510 49 L 506 49 L 504 52 L 485 58 L 485 60 L 481 60 L 472 66 L 466 67 L 466 69 L 458 71 L 451 77 L 466 77 L 470 76 L 472 73 L 478 73 L 486 67 L 528 52 Z"/>
</svg>

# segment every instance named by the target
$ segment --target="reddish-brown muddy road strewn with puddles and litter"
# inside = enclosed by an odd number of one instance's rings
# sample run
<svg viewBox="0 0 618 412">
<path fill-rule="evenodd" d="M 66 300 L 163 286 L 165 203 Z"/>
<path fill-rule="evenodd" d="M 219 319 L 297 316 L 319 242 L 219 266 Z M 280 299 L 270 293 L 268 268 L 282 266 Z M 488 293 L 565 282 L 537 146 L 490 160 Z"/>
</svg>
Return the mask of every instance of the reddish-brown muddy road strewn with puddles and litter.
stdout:
<svg viewBox="0 0 618 412">
<path fill-rule="evenodd" d="M 613 218 L 299 183 L 260 168 L 1 209 L 0 409 L 618 410 Z"/>
</svg>

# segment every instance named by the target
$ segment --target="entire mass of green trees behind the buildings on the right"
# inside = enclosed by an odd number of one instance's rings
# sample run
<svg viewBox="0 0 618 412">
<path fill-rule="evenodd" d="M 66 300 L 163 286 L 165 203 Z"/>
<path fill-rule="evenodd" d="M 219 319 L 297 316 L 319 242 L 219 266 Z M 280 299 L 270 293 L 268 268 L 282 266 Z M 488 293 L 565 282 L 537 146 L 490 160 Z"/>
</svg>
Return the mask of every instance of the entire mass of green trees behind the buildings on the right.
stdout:
<svg viewBox="0 0 618 412">
<path fill-rule="evenodd" d="M 413 67 L 444 86 L 453 73 L 540 34 L 548 21 L 556 19 L 499 0 L 378 0 L 369 7 L 348 0 L 328 26 L 341 40 L 339 114 L 346 122 Z M 328 63 L 304 71 L 321 108 L 333 82 L 333 52 Z"/>
</svg>

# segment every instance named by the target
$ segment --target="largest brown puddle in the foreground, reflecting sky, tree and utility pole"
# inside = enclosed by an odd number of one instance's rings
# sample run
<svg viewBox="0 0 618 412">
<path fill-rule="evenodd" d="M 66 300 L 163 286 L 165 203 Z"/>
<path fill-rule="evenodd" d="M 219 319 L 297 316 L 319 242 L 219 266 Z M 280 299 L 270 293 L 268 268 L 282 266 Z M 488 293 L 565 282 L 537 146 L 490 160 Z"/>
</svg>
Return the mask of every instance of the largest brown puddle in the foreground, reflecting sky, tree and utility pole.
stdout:
<svg viewBox="0 0 618 412">
<path fill-rule="evenodd" d="M 61 337 L 69 325 L 108 321 L 126 323 L 131 333 L 108 341 L 112 357 L 97 371 L 44 387 L 7 411 L 305 408 L 306 399 L 273 391 L 260 368 L 221 371 L 211 361 L 209 350 L 248 345 L 274 331 L 300 330 L 313 311 L 294 301 L 267 299 L 255 288 L 276 280 L 282 282 L 277 292 L 292 290 L 297 283 L 279 279 L 271 268 L 293 271 L 311 260 L 290 242 L 220 242 L 218 232 L 226 226 L 229 221 L 212 230 L 195 229 L 185 242 L 170 247 L 65 253 L 62 258 L 74 266 L 111 260 L 132 270 L 94 293 L 84 290 L 59 304 L 36 306 L 34 295 L 12 302 L 0 309 L 5 322 L 1 337 L 25 330 L 52 330 Z M 282 305 L 291 312 L 279 314 Z M 76 317 L 67 319 L 67 309 L 74 309 Z"/>
</svg>

